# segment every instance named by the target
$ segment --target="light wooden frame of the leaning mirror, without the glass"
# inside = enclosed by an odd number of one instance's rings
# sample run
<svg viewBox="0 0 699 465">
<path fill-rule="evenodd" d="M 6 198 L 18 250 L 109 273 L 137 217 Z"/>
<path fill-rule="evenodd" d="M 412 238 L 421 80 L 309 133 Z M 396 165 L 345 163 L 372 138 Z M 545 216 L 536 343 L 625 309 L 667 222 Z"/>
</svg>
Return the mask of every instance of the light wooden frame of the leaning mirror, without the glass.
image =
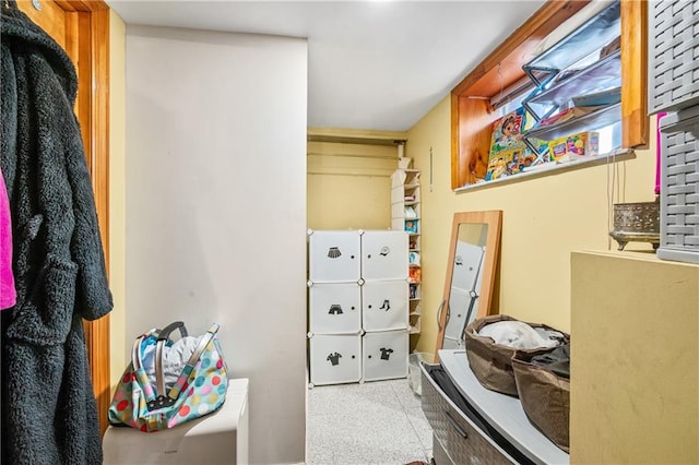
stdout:
<svg viewBox="0 0 699 465">
<path fill-rule="evenodd" d="M 449 260 L 447 261 L 447 277 L 445 279 L 445 293 L 437 311 L 437 346 L 435 348 L 435 363 L 439 363 L 439 350 L 445 343 L 445 330 L 449 317 L 449 299 L 451 298 L 451 279 L 453 278 L 454 254 L 457 252 L 457 241 L 459 238 L 459 226 L 462 224 L 486 224 L 488 231 L 486 235 L 485 254 L 483 257 L 483 276 L 481 278 L 481 294 L 478 295 L 478 310 L 476 318 L 491 314 L 490 302 L 493 300 L 493 289 L 495 288 L 495 272 L 500 253 L 500 233 L 502 229 L 502 211 L 490 210 L 484 212 L 462 212 L 454 213 L 451 226 L 451 243 L 449 246 Z"/>
</svg>

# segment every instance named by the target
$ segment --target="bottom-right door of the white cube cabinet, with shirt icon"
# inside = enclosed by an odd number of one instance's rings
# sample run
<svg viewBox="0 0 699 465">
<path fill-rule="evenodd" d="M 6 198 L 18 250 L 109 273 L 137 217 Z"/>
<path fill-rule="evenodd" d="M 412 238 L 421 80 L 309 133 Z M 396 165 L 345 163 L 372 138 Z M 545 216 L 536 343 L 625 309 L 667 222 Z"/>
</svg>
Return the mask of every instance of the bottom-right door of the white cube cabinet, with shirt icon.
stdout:
<svg viewBox="0 0 699 465">
<path fill-rule="evenodd" d="M 365 333 L 363 337 L 364 380 L 389 380 L 407 375 L 407 331 Z"/>
</svg>

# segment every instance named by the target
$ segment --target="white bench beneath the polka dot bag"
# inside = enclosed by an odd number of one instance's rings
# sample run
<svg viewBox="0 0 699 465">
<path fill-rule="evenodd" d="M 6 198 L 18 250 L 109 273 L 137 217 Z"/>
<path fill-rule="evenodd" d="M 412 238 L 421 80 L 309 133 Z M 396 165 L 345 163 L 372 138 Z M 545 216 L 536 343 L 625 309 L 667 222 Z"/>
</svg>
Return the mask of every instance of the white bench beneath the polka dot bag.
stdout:
<svg viewBox="0 0 699 465">
<path fill-rule="evenodd" d="M 211 415 L 173 429 L 107 428 L 104 464 L 247 464 L 248 380 L 228 381 L 226 402 Z"/>
</svg>

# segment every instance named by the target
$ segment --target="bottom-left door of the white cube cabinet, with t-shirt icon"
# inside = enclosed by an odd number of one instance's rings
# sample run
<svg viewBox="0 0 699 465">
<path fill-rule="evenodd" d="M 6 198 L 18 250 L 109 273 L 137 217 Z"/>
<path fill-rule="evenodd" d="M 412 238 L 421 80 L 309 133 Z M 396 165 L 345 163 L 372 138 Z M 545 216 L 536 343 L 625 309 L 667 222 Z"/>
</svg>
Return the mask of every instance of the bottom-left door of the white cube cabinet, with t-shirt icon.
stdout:
<svg viewBox="0 0 699 465">
<path fill-rule="evenodd" d="M 356 383 L 362 379 L 362 336 L 310 337 L 310 382 L 315 385 Z"/>
</svg>

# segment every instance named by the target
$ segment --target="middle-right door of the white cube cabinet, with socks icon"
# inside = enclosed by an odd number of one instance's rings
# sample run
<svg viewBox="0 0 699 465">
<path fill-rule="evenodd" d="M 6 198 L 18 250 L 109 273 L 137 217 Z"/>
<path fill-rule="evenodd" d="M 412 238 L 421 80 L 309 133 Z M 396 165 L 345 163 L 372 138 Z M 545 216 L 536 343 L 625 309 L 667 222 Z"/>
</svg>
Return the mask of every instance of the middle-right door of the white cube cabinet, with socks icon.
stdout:
<svg viewBox="0 0 699 465">
<path fill-rule="evenodd" d="M 362 286 L 364 331 L 405 330 L 408 325 L 406 281 L 367 281 Z"/>
</svg>

